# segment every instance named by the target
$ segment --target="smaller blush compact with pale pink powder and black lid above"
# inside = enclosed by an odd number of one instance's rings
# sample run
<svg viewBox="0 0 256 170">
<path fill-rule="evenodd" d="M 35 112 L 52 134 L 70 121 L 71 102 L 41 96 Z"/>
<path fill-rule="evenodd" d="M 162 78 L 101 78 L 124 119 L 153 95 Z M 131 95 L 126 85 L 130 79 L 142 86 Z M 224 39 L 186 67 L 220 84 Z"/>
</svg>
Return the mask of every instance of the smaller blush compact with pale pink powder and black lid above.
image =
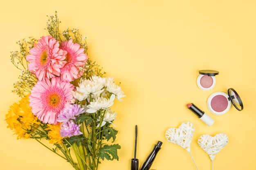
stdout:
<svg viewBox="0 0 256 170">
<path fill-rule="evenodd" d="M 215 70 L 200 70 L 199 74 L 197 79 L 198 87 L 203 91 L 209 91 L 215 86 L 215 76 L 218 75 L 219 72 Z"/>
</svg>

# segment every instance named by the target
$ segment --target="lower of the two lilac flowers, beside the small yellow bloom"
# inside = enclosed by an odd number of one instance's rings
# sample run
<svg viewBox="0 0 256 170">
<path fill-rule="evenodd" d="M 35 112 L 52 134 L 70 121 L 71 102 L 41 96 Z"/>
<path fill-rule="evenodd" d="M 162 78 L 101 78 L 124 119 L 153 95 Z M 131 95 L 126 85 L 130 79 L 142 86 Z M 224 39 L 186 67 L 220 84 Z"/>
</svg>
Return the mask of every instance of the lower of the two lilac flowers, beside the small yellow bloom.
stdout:
<svg viewBox="0 0 256 170">
<path fill-rule="evenodd" d="M 77 125 L 72 120 L 62 123 L 60 130 L 61 137 L 72 137 L 82 135 L 83 133 L 80 132 L 80 126 L 81 124 Z"/>
</svg>

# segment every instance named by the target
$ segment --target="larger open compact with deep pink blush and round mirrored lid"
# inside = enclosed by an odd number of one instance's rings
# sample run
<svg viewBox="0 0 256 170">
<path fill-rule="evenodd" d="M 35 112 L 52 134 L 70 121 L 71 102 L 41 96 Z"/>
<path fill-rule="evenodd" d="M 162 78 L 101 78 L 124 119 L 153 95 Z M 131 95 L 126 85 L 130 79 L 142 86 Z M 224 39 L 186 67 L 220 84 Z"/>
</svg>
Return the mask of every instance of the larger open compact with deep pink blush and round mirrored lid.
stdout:
<svg viewBox="0 0 256 170">
<path fill-rule="evenodd" d="M 239 111 L 243 110 L 243 102 L 238 93 L 233 89 L 228 89 L 228 94 L 216 92 L 210 95 L 207 100 L 207 107 L 215 115 L 223 115 L 229 111 L 231 104 Z"/>
</svg>

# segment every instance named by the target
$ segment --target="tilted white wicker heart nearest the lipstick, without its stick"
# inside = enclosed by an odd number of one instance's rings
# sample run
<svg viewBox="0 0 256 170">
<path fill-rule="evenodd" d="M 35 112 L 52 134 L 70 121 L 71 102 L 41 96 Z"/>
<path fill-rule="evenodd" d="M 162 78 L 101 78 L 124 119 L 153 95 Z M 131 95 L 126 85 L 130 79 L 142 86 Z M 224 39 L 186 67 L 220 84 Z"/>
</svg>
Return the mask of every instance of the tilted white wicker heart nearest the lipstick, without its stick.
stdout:
<svg viewBox="0 0 256 170">
<path fill-rule="evenodd" d="M 187 121 L 182 123 L 179 128 L 169 128 L 165 133 L 165 137 L 167 141 L 177 144 L 190 152 L 190 144 L 194 132 L 194 125 Z"/>
</svg>

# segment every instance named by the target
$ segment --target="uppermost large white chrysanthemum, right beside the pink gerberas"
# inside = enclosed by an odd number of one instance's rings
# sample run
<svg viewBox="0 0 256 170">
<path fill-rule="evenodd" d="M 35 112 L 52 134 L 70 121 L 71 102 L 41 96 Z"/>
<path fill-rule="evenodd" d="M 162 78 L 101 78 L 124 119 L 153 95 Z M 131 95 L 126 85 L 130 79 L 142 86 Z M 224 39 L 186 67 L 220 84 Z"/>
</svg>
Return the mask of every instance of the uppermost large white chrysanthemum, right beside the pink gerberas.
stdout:
<svg viewBox="0 0 256 170">
<path fill-rule="evenodd" d="M 104 91 L 104 89 L 102 89 L 103 87 L 104 85 L 101 83 L 85 79 L 83 82 L 79 84 L 79 87 L 76 87 L 76 91 L 85 95 L 96 95 Z"/>
</svg>

